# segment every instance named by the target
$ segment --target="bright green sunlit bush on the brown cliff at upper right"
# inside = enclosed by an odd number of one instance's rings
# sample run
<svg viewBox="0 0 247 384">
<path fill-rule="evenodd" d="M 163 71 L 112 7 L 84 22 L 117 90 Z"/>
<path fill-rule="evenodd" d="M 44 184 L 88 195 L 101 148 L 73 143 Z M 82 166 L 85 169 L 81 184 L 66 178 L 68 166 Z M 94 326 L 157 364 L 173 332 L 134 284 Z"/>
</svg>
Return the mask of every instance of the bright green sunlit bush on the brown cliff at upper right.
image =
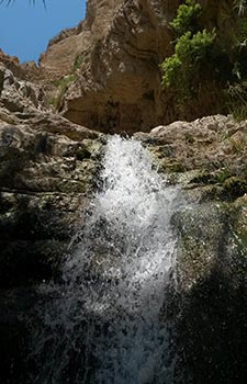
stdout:
<svg viewBox="0 0 247 384">
<path fill-rule="evenodd" d="M 200 29 L 201 13 L 202 7 L 199 3 L 186 0 L 170 23 L 177 38 L 175 54 L 161 64 L 162 84 L 166 88 L 172 87 L 179 104 L 197 93 L 197 82 L 200 81 L 198 75 L 209 58 L 210 48 L 216 37 L 214 30 Z"/>
</svg>

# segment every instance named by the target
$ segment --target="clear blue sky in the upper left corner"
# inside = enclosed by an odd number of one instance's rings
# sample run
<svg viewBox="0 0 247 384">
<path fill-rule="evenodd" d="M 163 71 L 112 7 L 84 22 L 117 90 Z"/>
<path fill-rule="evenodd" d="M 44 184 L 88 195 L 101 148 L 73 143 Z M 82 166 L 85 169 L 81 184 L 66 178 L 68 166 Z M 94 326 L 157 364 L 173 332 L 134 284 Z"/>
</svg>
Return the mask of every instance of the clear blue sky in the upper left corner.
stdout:
<svg viewBox="0 0 247 384">
<path fill-rule="evenodd" d="M 5 1 L 7 3 L 7 1 Z M 46 49 L 49 38 L 83 18 L 86 0 L 15 0 L 0 5 L 0 48 L 18 56 L 21 63 L 35 60 Z"/>
</svg>

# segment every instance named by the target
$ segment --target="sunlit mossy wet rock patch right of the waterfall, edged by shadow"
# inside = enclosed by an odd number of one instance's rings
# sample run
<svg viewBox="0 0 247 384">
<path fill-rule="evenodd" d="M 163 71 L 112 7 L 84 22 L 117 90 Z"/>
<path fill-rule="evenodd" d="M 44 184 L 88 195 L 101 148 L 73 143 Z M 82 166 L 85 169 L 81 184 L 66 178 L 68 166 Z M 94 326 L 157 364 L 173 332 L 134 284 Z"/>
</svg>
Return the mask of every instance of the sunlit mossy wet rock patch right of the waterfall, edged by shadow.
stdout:
<svg viewBox="0 0 247 384">
<path fill-rule="evenodd" d="M 178 271 L 184 290 L 209 275 L 223 259 L 228 217 L 228 206 L 217 203 L 189 206 L 177 214 Z"/>
</svg>

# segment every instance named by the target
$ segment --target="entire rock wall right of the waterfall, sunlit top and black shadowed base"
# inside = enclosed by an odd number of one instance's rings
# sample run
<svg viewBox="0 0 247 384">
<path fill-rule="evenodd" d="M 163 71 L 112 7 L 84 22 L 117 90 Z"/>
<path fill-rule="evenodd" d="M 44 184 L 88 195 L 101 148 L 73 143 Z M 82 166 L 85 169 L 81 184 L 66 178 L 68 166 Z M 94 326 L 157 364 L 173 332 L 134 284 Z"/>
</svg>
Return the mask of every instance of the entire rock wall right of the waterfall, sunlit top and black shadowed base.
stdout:
<svg viewBox="0 0 247 384">
<path fill-rule="evenodd" d="M 177 346 L 172 383 L 232 384 L 247 374 L 246 132 L 246 121 L 215 115 L 135 134 L 186 197 L 172 217 L 177 285 L 164 309 Z"/>
</svg>

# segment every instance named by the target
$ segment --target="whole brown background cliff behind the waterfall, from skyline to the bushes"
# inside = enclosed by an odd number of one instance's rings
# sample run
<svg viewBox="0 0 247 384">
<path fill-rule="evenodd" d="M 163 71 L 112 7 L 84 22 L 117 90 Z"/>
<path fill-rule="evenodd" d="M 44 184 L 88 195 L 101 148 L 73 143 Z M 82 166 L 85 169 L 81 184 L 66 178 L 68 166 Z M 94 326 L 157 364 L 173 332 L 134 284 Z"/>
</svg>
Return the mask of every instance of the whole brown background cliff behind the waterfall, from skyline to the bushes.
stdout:
<svg viewBox="0 0 247 384">
<path fill-rule="evenodd" d="M 218 87 L 202 74 L 198 98 L 186 108 L 171 90 L 161 87 L 160 63 L 172 54 L 169 22 L 180 1 L 88 0 L 86 19 L 50 39 L 34 63 L 0 52 L 0 60 L 14 76 L 44 86 L 46 101 L 68 120 L 91 129 L 120 133 L 148 132 L 176 120 L 225 113 Z M 202 24 L 217 27 L 231 50 L 226 30 L 234 30 L 232 1 L 201 1 Z M 234 32 L 233 32 L 234 34 Z"/>
</svg>

